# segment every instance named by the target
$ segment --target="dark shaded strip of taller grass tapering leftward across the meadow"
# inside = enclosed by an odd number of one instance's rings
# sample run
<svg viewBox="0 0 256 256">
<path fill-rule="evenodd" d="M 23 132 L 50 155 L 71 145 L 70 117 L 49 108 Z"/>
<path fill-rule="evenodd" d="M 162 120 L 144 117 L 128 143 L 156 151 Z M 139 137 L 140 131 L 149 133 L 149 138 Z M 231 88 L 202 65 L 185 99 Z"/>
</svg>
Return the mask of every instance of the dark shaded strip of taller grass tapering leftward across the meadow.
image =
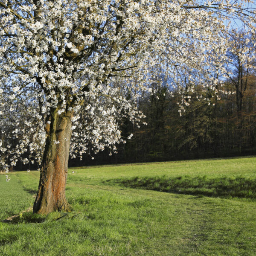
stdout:
<svg viewBox="0 0 256 256">
<path fill-rule="evenodd" d="M 134 189 L 148 189 L 177 194 L 221 197 L 248 198 L 256 200 L 256 179 L 237 178 L 208 178 L 180 176 L 134 177 L 131 179 L 106 180 L 103 183 L 124 186 Z"/>
</svg>

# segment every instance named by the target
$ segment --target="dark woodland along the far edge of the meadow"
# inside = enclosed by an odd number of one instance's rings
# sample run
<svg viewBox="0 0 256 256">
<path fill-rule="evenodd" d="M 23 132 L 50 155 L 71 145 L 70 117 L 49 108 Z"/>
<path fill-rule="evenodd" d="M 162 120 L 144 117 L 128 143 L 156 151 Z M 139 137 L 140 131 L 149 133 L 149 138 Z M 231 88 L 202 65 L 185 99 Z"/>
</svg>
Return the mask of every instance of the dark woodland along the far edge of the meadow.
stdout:
<svg viewBox="0 0 256 256">
<path fill-rule="evenodd" d="M 231 80 L 219 88 L 218 95 L 197 86 L 198 98 L 188 94 L 189 106 L 182 116 L 179 95 L 159 86 L 152 95 L 145 95 L 139 108 L 145 122 L 136 128 L 124 122 L 122 134 L 134 136 L 118 145 L 118 154 L 103 151 L 95 160 L 71 160 L 70 165 L 134 163 L 183 160 L 211 157 L 233 157 L 256 154 L 256 77 L 248 74 L 242 106 L 237 105 L 236 85 Z M 209 99 L 210 98 L 210 99 Z M 208 100 L 207 100 L 208 99 Z M 240 103 L 239 103 L 240 104 Z"/>
</svg>

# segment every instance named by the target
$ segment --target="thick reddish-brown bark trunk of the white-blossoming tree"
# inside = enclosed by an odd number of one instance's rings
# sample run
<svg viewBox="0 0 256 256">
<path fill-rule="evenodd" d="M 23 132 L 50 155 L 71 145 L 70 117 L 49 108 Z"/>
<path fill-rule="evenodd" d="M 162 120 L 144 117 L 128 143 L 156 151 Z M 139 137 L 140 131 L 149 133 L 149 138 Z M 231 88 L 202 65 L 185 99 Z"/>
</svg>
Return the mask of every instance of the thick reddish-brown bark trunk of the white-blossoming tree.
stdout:
<svg viewBox="0 0 256 256">
<path fill-rule="evenodd" d="M 58 109 L 50 115 L 50 125 L 46 127 L 47 140 L 42 159 L 40 182 L 33 212 L 48 214 L 53 211 L 69 211 L 65 188 L 69 158 L 72 113 L 58 114 Z"/>
</svg>

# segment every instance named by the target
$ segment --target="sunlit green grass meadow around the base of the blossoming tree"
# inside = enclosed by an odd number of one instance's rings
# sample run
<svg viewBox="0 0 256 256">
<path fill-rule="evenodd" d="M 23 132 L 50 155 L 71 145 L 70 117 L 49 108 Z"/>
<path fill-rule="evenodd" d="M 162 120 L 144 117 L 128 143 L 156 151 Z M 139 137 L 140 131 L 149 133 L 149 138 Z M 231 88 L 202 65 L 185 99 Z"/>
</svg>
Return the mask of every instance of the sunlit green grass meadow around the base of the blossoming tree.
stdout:
<svg viewBox="0 0 256 256">
<path fill-rule="evenodd" d="M 1 220 L 31 207 L 38 187 L 37 171 L 9 176 Z M 255 181 L 255 157 L 73 168 L 74 218 L 0 222 L 0 256 L 255 256 Z"/>
</svg>

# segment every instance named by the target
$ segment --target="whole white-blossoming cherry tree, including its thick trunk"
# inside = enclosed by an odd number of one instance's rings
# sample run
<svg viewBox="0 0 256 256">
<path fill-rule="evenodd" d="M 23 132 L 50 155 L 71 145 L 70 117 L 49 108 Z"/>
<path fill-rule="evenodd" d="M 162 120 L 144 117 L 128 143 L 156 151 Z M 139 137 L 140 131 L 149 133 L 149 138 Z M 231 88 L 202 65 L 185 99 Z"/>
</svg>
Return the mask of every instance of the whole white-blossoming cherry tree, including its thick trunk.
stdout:
<svg viewBox="0 0 256 256">
<path fill-rule="evenodd" d="M 143 117 L 136 102 L 150 91 L 151 67 L 163 65 L 181 96 L 184 73 L 215 91 L 228 20 L 254 29 L 247 2 L 1 0 L 0 164 L 40 165 L 33 211 L 69 209 L 69 156 L 125 142 L 119 126 Z"/>
</svg>

